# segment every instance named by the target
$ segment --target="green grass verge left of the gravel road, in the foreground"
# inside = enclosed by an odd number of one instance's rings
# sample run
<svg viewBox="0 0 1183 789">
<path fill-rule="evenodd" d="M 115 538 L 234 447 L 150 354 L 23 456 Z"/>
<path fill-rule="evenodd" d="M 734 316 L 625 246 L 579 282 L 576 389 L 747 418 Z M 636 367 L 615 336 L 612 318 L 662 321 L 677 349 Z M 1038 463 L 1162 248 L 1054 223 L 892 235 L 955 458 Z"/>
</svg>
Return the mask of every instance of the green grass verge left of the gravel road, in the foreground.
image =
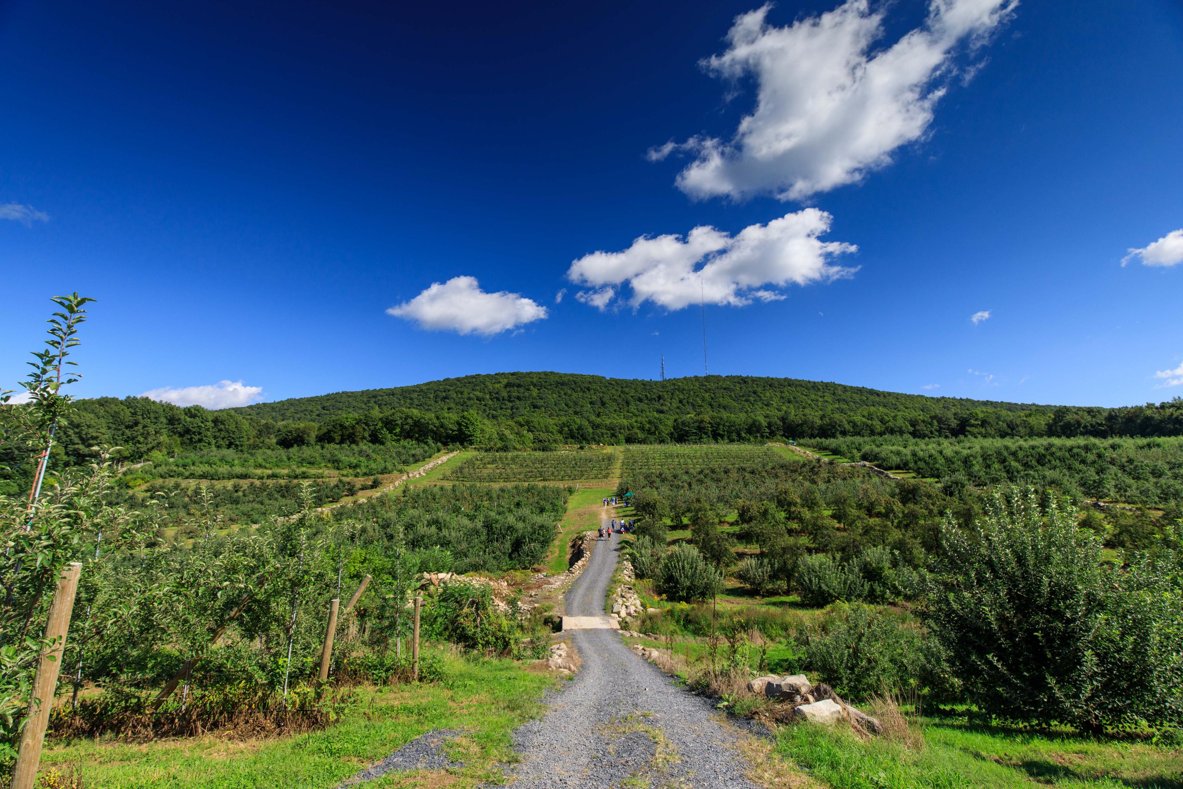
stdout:
<svg viewBox="0 0 1183 789">
<path fill-rule="evenodd" d="M 51 743 L 43 775 L 76 770 L 86 789 L 328 789 L 389 756 L 432 729 L 460 729 L 454 756 L 465 767 L 453 787 L 497 781 L 494 765 L 512 761 L 511 731 L 542 713 L 538 700 L 554 680 L 509 660 L 468 661 L 442 653 L 447 679 L 360 692 L 361 701 L 340 723 L 282 739 L 230 742 L 218 736 L 123 743 L 111 738 Z M 403 774 L 406 785 L 428 775 Z"/>
</svg>

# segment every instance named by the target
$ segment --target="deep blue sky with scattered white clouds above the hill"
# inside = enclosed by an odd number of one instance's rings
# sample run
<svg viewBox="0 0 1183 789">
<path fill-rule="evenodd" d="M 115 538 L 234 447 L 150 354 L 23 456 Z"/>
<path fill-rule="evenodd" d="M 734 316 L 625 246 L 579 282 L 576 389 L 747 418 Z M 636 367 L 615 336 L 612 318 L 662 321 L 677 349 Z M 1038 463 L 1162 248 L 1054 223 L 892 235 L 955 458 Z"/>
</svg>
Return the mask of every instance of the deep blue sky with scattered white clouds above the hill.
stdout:
<svg viewBox="0 0 1183 789">
<path fill-rule="evenodd" d="M 711 374 L 1183 393 L 1176 0 L 18 1 L 0 73 L 4 388 L 77 290 L 86 396 L 700 375 L 700 299 Z"/>
</svg>

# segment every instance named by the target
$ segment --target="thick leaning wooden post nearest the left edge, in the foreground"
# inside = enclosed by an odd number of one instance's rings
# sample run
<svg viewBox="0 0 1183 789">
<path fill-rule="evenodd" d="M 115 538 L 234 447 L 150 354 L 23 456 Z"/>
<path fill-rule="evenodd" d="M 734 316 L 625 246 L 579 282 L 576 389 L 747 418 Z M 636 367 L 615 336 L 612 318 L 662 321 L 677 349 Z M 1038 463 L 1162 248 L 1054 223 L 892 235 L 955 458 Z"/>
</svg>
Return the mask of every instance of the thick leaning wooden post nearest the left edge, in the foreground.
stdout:
<svg viewBox="0 0 1183 789">
<path fill-rule="evenodd" d="M 20 750 L 17 754 L 17 768 L 12 774 L 12 789 L 33 789 L 37 781 L 37 768 L 41 763 L 41 745 L 45 742 L 45 726 L 50 723 L 53 710 L 53 694 L 58 687 L 58 674 L 62 672 L 62 655 L 66 647 L 66 633 L 70 629 L 70 616 L 73 613 L 73 599 L 78 591 L 78 576 L 82 574 L 82 562 L 71 562 L 62 568 L 58 577 L 58 589 L 53 593 L 50 604 L 50 619 L 45 625 L 45 639 L 49 647 L 41 651 L 41 661 L 37 666 L 33 679 L 33 696 L 28 700 L 28 719 L 20 735 Z"/>
</svg>

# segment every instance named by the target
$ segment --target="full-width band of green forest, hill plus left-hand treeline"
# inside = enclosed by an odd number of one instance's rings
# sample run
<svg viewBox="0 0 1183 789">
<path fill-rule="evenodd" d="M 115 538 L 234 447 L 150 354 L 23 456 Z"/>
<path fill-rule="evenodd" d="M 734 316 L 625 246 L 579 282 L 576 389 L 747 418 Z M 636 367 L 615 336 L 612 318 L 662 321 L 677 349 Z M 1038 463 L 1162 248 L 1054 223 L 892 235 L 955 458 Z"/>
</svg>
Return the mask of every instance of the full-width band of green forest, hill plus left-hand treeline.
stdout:
<svg viewBox="0 0 1183 789">
<path fill-rule="evenodd" d="M 793 379 L 670 381 L 563 373 L 470 375 L 211 412 L 144 397 L 78 401 L 59 433 L 70 463 L 98 444 L 131 459 L 181 450 L 1183 435 L 1183 399 L 1121 408 L 1037 406 L 879 392 Z M 0 459 L 2 461 L 2 459 Z"/>
</svg>

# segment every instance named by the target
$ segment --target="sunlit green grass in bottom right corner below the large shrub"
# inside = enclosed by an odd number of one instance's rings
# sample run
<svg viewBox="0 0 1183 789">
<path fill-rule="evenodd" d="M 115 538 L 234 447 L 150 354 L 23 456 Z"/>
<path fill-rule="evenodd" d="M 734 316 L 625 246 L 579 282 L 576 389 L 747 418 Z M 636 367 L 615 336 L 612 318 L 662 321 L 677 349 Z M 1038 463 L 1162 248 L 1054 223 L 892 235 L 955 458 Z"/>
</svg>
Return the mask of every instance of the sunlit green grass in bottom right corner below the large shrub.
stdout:
<svg viewBox="0 0 1183 789">
<path fill-rule="evenodd" d="M 1066 733 L 1013 732 L 926 719 L 923 745 L 864 742 L 849 730 L 788 726 L 777 751 L 834 789 L 1178 789 L 1183 752 Z"/>
</svg>

